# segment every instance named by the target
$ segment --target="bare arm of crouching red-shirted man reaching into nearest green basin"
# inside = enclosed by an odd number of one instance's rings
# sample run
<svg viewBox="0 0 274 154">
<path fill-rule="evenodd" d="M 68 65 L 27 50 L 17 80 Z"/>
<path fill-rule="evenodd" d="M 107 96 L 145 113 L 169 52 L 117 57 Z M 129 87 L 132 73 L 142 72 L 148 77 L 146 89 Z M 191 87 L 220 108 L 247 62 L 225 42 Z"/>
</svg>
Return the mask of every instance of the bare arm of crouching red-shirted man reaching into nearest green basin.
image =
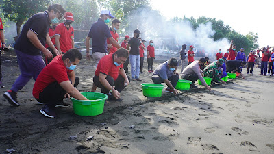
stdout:
<svg viewBox="0 0 274 154">
<path fill-rule="evenodd" d="M 74 97 L 77 100 L 88 100 L 86 97 L 84 97 L 76 88 L 73 87 L 71 84 L 71 81 L 62 81 L 60 83 L 60 86 L 71 95 L 71 97 Z"/>
</svg>

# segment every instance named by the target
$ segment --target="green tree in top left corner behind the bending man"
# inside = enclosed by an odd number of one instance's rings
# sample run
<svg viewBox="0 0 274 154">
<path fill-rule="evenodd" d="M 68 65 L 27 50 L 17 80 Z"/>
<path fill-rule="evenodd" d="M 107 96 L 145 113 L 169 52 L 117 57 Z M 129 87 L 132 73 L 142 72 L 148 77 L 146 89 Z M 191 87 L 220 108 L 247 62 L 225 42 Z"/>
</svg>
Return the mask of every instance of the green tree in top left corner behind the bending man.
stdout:
<svg viewBox="0 0 274 154">
<path fill-rule="evenodd" d="M 47 9 L 49 0 L 3 0 L 5 18 L 16 23 L 17 36 L 21 33 L 21 25 L 30 16 Z"/>
</svg>

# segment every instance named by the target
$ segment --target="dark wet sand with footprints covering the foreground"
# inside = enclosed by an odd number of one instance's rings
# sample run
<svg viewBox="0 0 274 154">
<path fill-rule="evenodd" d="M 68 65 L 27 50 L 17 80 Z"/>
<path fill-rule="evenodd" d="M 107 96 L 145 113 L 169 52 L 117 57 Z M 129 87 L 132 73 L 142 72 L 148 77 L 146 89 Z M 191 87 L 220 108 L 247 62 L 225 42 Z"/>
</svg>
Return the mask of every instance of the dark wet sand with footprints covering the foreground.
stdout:
<svg viewBox="0 0 274 154">
<path fill-rule="evenodd" d="M 1 56 L 3 94 L 20 72 L 13 53 Z M 94 65 L 82 60 L 77 66 L 82 92 L 91 91 Z M 0 97 L 0 153 L 274 153 L 273 77 L 255 69 L 247 80 L 229 79 L 212 92 L 199 86 L 147 98 L 140 84 L 151 82 L 151 73 L 144 65 L 142 81 L 121 92 L 123 102 L 108 101 L 99 116 L 77 116 L 71 105 L 46 118 L 32 97 L 33 79 L 18 92 L 20 107 Z"/>
</svg>

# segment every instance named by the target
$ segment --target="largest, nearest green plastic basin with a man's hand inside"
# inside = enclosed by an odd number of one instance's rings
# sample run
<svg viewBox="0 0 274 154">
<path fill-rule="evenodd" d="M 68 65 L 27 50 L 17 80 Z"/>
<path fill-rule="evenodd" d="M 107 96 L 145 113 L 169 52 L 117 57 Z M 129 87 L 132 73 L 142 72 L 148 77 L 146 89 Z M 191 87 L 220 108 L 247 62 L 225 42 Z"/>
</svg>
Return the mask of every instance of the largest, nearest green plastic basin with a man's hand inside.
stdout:
<svg viewBox="0 0 274 154">
<path fill-rule="evenodd" d="M 79 116 L 97 116 L 103 113 L 103 107 L 108 95 L 99 92 L 81 92 L 81 94 L 89 100 L 77 100 L 71 97 L 75 114 Z"/>
</svg>

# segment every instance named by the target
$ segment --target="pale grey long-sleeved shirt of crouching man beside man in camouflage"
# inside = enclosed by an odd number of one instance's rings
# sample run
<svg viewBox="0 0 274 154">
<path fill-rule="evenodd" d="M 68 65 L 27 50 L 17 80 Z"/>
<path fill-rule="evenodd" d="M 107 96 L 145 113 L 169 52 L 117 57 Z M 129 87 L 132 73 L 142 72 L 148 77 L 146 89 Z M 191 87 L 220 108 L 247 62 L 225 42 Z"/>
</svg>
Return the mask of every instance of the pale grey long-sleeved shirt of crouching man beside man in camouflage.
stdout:
<svg viewBox="0 0 274 154">
<path fill-rule="evenodd" d="M 181 74 L 181 78 L 184 78 L 186 75 L 192 75 L 194 73 L 198 75 L 201 81 L 201 84 L 203 84 L 203 86 L 206 86 L 206 81 L 205 79 L 203 79 L 203 76 L 201 76 L 201 73 L 203 73 L 203 71 L 200 69 L 198 60 L 195 60 L 194 62 L 189 64 L 186 68 L 184 68 Z"/>
</svg>

